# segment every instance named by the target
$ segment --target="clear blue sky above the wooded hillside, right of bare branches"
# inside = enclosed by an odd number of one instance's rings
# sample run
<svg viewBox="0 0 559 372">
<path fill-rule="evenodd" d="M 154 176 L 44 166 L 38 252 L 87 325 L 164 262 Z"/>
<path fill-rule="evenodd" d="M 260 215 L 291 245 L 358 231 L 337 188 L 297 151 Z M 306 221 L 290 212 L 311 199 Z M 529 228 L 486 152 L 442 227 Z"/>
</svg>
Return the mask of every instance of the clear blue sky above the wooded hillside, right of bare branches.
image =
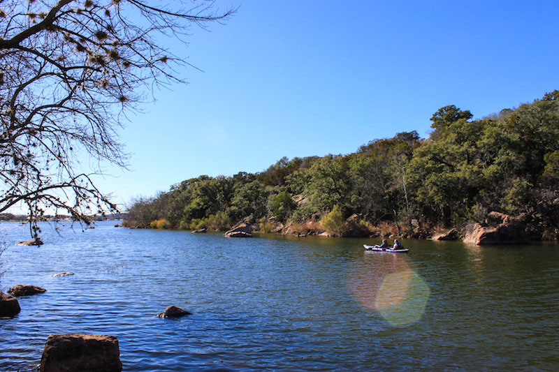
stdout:
<svg viewBox="0 0 559 372">
<path fill-rule="evenodd" d="M 348 154 L 430 132 L 444 105 L 484 117 L 559 89 L 558 1 L 216 1 L 225 25 L 170 43 L 194 68 L 122 131 L 117 202 L 282 156 Z"/>
</svg>

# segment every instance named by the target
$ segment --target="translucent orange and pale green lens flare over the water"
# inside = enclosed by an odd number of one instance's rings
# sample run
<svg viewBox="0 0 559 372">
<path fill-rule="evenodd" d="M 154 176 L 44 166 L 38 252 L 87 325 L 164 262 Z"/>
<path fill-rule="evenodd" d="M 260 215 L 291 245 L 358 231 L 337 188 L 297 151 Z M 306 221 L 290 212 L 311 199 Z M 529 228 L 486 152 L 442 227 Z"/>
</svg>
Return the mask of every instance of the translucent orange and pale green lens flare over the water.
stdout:
<svg viewBox="0 0 559 372">
<path fill-rule="evenodd" d="M 393 326 L 421 319 L 430 295 L 427 283 L 400 255 L 382 252 L 356 262 L 349 288 L 361 304 Z"/>
</svg>

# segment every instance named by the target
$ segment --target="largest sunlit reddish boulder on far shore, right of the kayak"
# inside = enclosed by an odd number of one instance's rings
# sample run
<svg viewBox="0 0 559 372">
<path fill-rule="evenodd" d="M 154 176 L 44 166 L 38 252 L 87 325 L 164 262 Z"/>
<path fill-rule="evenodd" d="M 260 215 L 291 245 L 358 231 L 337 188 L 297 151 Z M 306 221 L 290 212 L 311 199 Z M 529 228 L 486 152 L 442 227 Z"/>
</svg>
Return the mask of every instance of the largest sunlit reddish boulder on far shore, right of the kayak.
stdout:
<svg viewBox="0 0 559 372">
<path fill-rule="evenodd" d="M 525 234 L 525 224 L 518 218 L 493 211 L 481 223 L 467 228 L 463 241 L 478 246 L 525 244 L 528 237 Z"/>
</svg>

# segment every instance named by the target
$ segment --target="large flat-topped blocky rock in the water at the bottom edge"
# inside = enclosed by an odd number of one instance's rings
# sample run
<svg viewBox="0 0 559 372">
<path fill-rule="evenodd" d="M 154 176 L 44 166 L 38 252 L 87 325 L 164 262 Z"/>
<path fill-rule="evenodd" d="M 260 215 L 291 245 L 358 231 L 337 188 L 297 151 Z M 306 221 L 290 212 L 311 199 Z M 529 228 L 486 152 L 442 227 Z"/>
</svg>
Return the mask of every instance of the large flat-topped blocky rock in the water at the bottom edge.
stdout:
<svg viewBox="0 0 559 372">
<path fill-rule="evenodd" d="M 51 334 L 47 338 L 41 372 L 122 371 L 116 336 Z"/>
</svg>

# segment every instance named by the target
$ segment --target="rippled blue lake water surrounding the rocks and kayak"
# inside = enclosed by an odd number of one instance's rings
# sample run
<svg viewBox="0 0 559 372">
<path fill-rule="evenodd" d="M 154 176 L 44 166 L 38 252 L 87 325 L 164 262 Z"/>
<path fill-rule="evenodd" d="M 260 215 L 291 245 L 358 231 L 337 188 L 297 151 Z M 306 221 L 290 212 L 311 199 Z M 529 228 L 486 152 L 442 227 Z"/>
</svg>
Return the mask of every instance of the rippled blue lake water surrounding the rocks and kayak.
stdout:
<svg viewBox="0 0 559 372">
<path fill-rule="evenodd" d="M 397 255 L 113 225 L 45 225 L 40 248 L 0 225 L 0 289 L 48 290 L 0 319 L 1 371 L 33 369 L 57 333 L 118 336 L 127 371 L 559 370 L 558 244 L 404 241 Z M 169 305 L 194 314 L 157 318 Z"/>
</svg>

